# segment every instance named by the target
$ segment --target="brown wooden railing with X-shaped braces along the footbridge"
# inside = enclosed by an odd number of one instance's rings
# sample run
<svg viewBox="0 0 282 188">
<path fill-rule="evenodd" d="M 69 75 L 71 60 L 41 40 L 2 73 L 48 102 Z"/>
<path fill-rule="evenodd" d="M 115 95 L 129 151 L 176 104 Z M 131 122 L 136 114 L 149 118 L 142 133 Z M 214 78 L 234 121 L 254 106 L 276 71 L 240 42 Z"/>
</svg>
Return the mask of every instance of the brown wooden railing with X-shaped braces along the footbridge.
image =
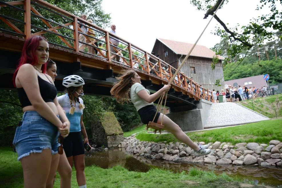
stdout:
<svg viewBox="0 0 282 188">
<path fill-rule="evenodd" d="M 128 68 L 157 76 L 164 82 L 168 82 L 176 72 L 174 67 L 153 54 L 46 1 L 0 1 L 0 6 L 1 32 L 25 39 L 33 35 L 43 35 L 51 45 L 63 48 L 64 51 L 88 54 L 108 62 L 124 64 Z M 86 33 L 84 28 L 87 28 Z M 115 41 L 120 45 L 114 45 Z M 102 45 L 99 46 L 98 43 Z M 116 57 L 119 57 L 119 62 Z M 173 84 L 185 89 L 196 100 L 203 98 L 213 101 L 210 91 L 193 81 L 187 81 L 187 76 L 178 73 Z"/>
</svg>

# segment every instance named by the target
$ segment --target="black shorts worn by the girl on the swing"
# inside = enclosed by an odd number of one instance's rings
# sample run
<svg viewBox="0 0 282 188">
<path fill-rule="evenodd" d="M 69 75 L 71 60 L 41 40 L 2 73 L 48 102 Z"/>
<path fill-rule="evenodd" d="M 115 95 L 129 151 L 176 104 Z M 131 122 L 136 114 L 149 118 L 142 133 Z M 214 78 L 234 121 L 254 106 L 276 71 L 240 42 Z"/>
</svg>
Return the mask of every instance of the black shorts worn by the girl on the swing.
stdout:
<svg viewBox="0 0 282 188">
<path fill-rule="evenodd" d="M 156 106 L 154 106 L 153 104 L 144 106 L 143 108 L 140 108 L 138 110 L 141 121 L 144 124 L 148 124 L 149 121 L 153 121 L 156 112 L 157 112 Z M 154 120 L 155 123 L 158 121 L 159 116 L 160 116 L 160 112 L 158 112 L 156 115 L 156 118 Z"/>
</svg>

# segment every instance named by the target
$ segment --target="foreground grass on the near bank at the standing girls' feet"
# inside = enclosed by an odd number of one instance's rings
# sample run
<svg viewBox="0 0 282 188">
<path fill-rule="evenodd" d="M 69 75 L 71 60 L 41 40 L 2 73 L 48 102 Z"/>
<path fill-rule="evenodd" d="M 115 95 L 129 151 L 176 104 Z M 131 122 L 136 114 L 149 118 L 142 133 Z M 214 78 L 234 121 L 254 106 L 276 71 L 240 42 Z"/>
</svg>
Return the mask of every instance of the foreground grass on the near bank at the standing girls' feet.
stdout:
<svg viewBox="0 0 282 188">
<path fill-rule="evenodd" d="M 13 153 L 11 148 L 0 147 L 0 182 L 2 188 L 22 188 L 23 171 L 21 163 L 17 161 L 17 154 Z M 253 183 L 248 180 L 242 180 L 239 177 L 232 177 L 225 173 L 216 175 L 212 171 L 201 171 L 196 168 L 189 172 L 172 173 L 165 169 L 151 169 L 146 173 L 133 172 L 117 166 L 111 169 L 102 169 L 100 167 L 86 167 L 87 187 L 96 188 L 239 188 L 239 183 Z M 59 188 L 60 181 L 57 175 L 55 188 Z M 76 183 L 76 171 L 72 172 L 72 187 L 78 187 Z"/>
</svg>

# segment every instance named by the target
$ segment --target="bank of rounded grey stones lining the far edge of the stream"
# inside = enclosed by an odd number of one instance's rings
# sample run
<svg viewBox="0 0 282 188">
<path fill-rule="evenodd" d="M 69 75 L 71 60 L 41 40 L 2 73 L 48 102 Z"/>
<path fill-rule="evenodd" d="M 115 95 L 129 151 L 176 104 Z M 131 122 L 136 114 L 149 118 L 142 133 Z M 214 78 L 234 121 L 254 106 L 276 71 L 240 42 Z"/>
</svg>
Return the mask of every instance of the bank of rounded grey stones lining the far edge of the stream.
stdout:
<svg viewBox="0 0 282 188">
<path fill-rule="evenodd" d="M 197 144 L 205 144 L 200 142 Z M 153 143 L 137 140 L 134 136 L 125 138 L 118 147 L 124 147 L 127 153 L 151 159 L 162 159 L 177 163 L 212 163 L 216 165 L 261 165 L 262 167 L 282 167 L 282 143 L 271 140 L 269 144 L 209 143 L 209 149 L 215 149 L 209 156 L 193 156 L 194 151 L 184 143 Z"/>
</svg>

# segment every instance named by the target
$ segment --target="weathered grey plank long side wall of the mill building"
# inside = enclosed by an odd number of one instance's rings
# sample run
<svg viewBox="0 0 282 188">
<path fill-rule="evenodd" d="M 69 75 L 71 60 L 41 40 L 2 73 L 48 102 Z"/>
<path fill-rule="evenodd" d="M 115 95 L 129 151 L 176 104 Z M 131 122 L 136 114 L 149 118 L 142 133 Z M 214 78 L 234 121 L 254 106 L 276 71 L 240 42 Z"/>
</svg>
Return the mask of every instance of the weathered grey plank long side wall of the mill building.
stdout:
<svg viewBox="0 0 282 188">
<path fill-rule="evenodd" d="M 178 55 L 180 57 L 180 55 Z M 185 56 L 181 58 L 181 62 Z M 215 89 L 221 90 L 224 89 L 224 86 L 215 86 L 215 81 L 217 79 L 221 80 L 221 84 L 224 84 L 224 78 L 223 78 L 223 68 L 221 65 L 221 60 L 219 63 L 216 64 L 215 70 L 211 69 L 211 63 L 213 62 L 210 58 L 201 58 L 201 57 L 194 57 L 190 56 L 186 63 L 181 68 L 181 72 L 183 71 L 185 75 L 188 77 L 193 77 L 193 80 L 197 82 L 198 84 L 202 84 L 204 88 L 207 88 L 209 90 Z M 196 74 L 192 74 L 190 67 L 195 67 Z"/>
</svg>

